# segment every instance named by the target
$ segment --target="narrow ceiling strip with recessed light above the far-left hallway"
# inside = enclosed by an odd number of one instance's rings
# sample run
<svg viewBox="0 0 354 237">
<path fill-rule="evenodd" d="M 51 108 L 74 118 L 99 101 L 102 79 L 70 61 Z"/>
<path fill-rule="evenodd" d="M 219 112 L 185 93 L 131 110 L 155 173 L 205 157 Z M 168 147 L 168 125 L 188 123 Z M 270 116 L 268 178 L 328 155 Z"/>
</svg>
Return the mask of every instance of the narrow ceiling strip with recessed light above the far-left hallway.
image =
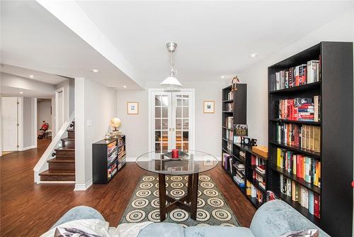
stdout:
<svg viewBox="0 0 354 237">
<path fill-rule="evenodd" d="M 58 75 L 52 75 L 50 73 L 39 72 L 35 70 L 30 70 L 23 67 L 15 67 L 11 65 L 1 64 L 0 72 L 5 72 L 11 75 L 16 75 L 18 77 L 25 77 L 28 79 L 34 79 L 36 81 L 45 82 L 49 84 L 59 84 L 64 82 L 67 78 L 60 77 Z M 33 76 L 33 77 L 30 77 Z"/>
</svg>

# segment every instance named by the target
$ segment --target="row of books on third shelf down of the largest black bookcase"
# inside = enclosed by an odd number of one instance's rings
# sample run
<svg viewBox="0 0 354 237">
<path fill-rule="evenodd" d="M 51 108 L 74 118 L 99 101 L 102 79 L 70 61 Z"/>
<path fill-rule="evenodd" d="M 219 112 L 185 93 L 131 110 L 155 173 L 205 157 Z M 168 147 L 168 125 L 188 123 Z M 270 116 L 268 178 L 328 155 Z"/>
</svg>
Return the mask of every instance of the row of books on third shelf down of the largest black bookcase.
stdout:
<svg viewBox="0 0 354 237">
<path fill-rule="evenodd" d="M 319 153 L 321 150 L 321 127 L 278 123 L 276 129 L 278 143 L 294 145 Z"/>
</svg>

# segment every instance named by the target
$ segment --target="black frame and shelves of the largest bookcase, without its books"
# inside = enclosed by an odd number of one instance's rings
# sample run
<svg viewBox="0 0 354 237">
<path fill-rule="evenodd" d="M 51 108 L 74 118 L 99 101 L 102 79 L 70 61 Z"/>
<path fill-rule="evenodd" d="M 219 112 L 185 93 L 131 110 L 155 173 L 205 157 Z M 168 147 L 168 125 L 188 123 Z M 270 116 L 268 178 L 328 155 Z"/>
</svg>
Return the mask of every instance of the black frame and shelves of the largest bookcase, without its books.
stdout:
<svg viewBox="0 0 354 237">
<path fill-rule="evenodd" d="M 319 82 L 275 89 L 275 72 L 319 60 Z M 279 118 L 279 100 L 320 96 L 320 121 Z M 319 152 L 279 143 L 277 125 L 319 127 Z M 315 128 L 314 128 L 315 129 Z M 321 185 L 305 182 L 277 165 L 277 150 L 305 155 L 321 162 Z M 331 236 L 353 231 L 353 43 L 321 42 L 268 67 L 268 188 Z M 280 191 L 280 175 L 319 195 L 319 217 Z"/>
</svg>

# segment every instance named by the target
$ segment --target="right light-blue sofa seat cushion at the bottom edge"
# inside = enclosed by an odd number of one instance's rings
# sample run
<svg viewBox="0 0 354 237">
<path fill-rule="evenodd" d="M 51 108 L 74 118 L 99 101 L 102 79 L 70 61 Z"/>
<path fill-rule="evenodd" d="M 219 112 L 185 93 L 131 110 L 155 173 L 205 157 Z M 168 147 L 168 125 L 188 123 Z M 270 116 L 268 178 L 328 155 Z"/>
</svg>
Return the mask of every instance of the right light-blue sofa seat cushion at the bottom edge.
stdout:
<svg viewBox="0 0 354 237">
<path fill-rule="evenodd" d="M 245 227 L 227 226 L 192 226 L 185 228 L 185 237 L 254 237 L 252 231 Z"/>
</svg>

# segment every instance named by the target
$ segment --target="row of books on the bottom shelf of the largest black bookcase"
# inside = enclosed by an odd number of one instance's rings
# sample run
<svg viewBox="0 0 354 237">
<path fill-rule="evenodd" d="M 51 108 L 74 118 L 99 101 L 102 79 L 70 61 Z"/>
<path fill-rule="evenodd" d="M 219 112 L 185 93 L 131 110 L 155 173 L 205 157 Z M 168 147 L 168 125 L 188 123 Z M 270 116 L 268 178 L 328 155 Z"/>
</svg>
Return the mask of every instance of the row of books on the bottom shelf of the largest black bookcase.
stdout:
<svg viewBox="0 0 354 237">
<path fill-rule="evenodd" d="M 298 202 L 301 206 L 308 209 L 310 214 L 320 218 L 321 197 L 319 194 L 316 194 L 297 182 L 288 179 L 284 175 L 280 175 L 280 192 L 287 197 L 290 197 L 292 201 Z"/>
</svg>

